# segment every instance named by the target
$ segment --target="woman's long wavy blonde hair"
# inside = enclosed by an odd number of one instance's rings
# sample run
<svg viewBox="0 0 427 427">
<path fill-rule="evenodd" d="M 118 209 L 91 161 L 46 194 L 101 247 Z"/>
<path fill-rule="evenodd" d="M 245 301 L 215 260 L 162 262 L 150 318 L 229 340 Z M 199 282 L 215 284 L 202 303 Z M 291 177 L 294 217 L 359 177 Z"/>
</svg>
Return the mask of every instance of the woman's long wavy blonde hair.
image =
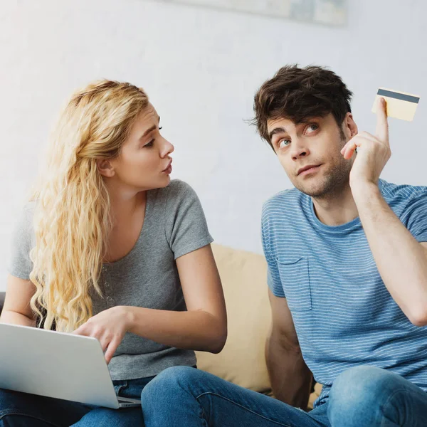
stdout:
<svg viewBox="0 0 427 427">
<path fill-rule="evenodd" d="M 31 197 L 36 201 L 31 308 L 41 319 L 39 327 L 72 332 L 92 316 L 91 292 L 102 296 L 98 279 L 112 223 L 96 161 L 120 155 L 148 103 L 134 85 L 100 80 L 76 92 L 60 115 Z"/>
</svg>

